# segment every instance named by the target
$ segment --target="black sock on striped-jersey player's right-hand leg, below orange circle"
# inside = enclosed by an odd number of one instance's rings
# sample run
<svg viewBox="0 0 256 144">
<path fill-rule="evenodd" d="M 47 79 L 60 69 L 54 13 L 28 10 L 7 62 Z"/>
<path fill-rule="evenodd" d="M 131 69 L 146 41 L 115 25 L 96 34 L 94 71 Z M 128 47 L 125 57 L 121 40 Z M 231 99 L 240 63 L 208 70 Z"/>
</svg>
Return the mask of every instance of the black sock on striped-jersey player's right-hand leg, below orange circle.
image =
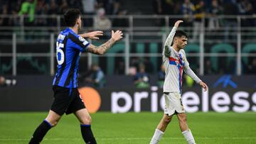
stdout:
<svg viewBox="0 0 256 144">
<path fill-rule="evenodd" d="M 95 137 L 93 136 L 92 129 L 90 125 L 80 125 L 82 138 L 85 140 L 86 144 L 96 144 Z"/>
</svg>

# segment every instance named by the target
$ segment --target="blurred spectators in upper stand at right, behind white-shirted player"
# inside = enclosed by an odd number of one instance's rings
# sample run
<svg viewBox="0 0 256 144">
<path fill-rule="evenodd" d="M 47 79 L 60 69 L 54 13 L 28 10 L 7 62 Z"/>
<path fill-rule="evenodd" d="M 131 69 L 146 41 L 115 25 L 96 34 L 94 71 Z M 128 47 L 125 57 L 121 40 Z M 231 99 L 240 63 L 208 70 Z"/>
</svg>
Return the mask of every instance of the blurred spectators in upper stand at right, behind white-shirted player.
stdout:
<svg viewBox="0 0 256 144">
<path fill-rule="evenodd" d="M 183 26 L 193 27 L 191 42 L 198 40 L 203 24 L 207 31 L 218 31 L 220 26 L 224 27 L 224 40 L 229 40 L 232 36 L 230 31 L 236 31 L 238 20 L 218 16 L 256 16 L 255 0 L 153 0 L 153 8 L 155 15 L 183 16 Z M 206 18 L 205 23 L 203 18 Z M 156 21 L 156 24 L 164 26 L 165 23 Z M 255 17 L 242 18 L 241 26 L 256 26 Z"/>
</svg>

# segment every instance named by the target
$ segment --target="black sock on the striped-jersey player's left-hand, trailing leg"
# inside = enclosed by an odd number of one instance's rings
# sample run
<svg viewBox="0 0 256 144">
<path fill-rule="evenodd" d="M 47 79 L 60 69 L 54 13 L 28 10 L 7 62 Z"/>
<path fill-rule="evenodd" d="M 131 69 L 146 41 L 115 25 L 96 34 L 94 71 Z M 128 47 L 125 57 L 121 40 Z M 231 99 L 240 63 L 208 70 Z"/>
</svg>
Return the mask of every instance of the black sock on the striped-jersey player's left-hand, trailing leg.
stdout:
<svg viewBox="0 0 256 144">
<path fill-rule="evenodd" d="M 29 144 L 38 144 L 43 140 L 43 137 L 46 135 L 46 133 L 50 130 L 51 124 L 44 120 L 38 128 L 36 128 L 36 131 L 33 133 L 33 136 L 29 142 Z"/>
</svg>

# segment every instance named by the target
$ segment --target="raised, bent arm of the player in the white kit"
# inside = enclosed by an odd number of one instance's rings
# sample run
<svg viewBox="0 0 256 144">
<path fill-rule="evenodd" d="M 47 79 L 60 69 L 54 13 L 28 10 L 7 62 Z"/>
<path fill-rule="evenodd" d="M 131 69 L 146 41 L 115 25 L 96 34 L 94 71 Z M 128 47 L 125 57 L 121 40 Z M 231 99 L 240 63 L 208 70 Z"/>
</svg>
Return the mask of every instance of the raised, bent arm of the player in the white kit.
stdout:
<svg viewBox="0 0 256 144">
<path fill-rule="evenodd" d="M 166 38 L 166 41 L 164 43 L 164 55 L 166 57 L 169 57 L 170 54 L 171 54 L 171 50 L 170 50 L 170 46 L 171 46 L 171 43 L 174 39 L 174 35 L 178 29 L 178 26 L 180 23 L 182 23 L 183 21 L 179 20 L 179 21 L 176 21 L 176 23 L 174 24 L 174 28 L 171 29 L 171 33 L 169 33 L 168 37 Z"/>
</svg>

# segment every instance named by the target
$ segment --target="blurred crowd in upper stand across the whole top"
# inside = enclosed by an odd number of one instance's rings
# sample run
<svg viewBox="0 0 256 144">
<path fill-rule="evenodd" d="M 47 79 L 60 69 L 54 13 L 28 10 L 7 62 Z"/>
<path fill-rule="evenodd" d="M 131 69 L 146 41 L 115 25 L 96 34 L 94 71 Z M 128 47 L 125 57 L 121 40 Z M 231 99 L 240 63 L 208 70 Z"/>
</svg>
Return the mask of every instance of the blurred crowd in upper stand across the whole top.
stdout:
<svg viewBox="0 0 256 144">
<path fill-rule="evenodd" d="M 151 0 L 151 12 L 155 15 L 183 16 L 183 26 L 193 27 L 191 42 L 198 40 L 202 31 L 202 20 L 206 20 L 208 31 L 218 31 L 225 27 L 225 40 L 230 39 L 230 31 L 236 31 L 236 18 L 219 19 L 220 15 L 256 16 L 256 1 L 254 0 Z M 13 0 L 0 1 L 0 14 L 25 16 L 25 26 L 56 26 L 57 20 L 42 16 L 62 15 L 69 8 L 80 9 L 82 14 L 92 16 L 84 18 L 84 26 L 106 31 L 112 27 L 128 27 L 128 19 L 122 18 L 127 10 L 122 0 Z M 131 11 L 130 11 L 131 12 Z M 106 15 L 120 16 L 109 18 Z M 39 16 L 35 18 L 35 16 Z M 20 26 L 18 17 L 0 18 L 0 26 Z M 155 21 L 158 26 L 165 26 L 164 19 Z M 60 23 L 64 26 L 64 23 Z M 172 23 L 170 23 L 172 25 Z M 255 18 L 242 18 L 241 26 L 256 26 Z"/>
</svg>

